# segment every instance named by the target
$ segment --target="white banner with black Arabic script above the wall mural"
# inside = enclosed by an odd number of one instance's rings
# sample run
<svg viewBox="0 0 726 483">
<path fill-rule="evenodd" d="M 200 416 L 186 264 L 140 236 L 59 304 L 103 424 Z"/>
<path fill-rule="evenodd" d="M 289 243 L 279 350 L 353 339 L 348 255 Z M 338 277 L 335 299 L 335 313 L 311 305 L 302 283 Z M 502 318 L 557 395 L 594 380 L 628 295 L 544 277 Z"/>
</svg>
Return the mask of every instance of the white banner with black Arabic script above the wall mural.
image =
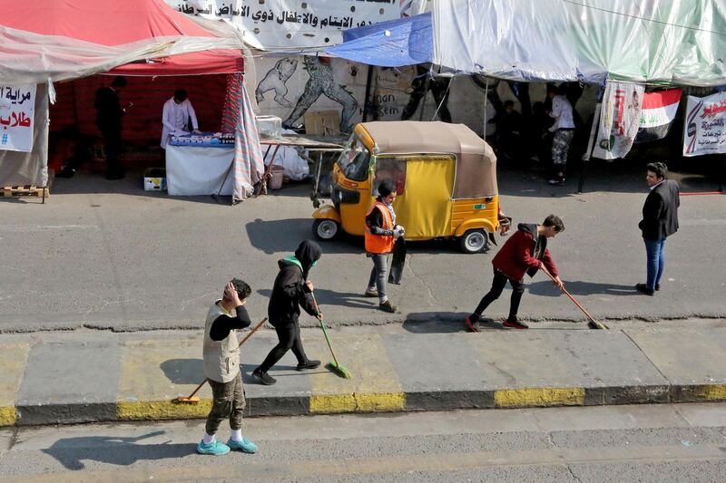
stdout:
<svg viewBox="0 0 726 483">
<path fill-rule="evenodd" d="M 223 18 L 253 34 L 264 49 L 341 43 L 343 30 L 399 18 L 401 12 L 398 0 L 164 1 L 184 14 Z"/>
</svg>

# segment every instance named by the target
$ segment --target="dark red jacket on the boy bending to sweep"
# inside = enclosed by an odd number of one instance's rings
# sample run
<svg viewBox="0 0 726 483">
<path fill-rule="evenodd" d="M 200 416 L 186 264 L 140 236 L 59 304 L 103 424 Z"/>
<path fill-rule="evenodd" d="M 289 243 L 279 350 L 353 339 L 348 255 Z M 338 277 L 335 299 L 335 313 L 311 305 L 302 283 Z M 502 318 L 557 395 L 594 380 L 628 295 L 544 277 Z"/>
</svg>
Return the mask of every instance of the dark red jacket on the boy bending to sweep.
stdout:
<svg viewBox="0 0 726 483">
<path fill-rule="evenodd" d="M 557 276 L 559 272 L 546 248 L 546 238 L 543 238 L 545 247 L 544 253 L 540 255 L 541 261 L 535 257 L 536 234 L 536 225 L 520 223 L 515 233 L 496 254 L 492 265 L 513 280 L 522 280 L 525 273 L 534 276 L 543 264 L 553 276 Z"/>
</svg>

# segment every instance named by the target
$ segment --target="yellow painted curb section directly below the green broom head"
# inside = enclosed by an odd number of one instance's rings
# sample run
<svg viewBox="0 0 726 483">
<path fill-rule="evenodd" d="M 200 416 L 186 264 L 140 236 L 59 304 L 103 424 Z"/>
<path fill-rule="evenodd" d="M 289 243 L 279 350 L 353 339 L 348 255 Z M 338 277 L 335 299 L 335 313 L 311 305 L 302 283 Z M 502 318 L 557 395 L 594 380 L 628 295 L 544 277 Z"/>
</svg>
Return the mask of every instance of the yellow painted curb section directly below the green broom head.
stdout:
<svg viewBox="0 0 726 483">
<path fill-rule="evenodd" d="M 310 396 L 309 404 L 310 412 L 316 414 L 402 411 L 406 408 L 406 394 L 403 392 L 326 394 Z"/>
</svg>

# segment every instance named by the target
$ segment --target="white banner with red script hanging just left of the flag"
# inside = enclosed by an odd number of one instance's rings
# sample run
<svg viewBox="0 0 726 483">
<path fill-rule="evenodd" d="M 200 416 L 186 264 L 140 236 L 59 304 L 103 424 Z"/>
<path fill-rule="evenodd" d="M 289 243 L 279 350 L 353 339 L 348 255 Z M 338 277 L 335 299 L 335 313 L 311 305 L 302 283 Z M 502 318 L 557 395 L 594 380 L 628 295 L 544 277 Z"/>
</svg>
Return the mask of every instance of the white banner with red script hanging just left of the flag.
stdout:
<svg viewBox="0 0 726 483">
<path fill-rule="evenodd" d="M 608 82 L 600 111 L 593 157 L 624 158 L 638 133 L 643 106 L 643 85 Z"/>
</svg>

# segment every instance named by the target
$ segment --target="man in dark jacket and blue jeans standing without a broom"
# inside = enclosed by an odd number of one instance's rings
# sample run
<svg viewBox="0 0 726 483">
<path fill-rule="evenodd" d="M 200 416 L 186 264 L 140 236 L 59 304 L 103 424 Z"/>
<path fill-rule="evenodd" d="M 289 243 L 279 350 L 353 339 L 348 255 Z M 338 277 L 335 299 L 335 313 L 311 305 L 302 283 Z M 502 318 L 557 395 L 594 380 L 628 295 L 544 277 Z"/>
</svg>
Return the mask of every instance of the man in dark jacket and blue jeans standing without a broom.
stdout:
<svg viewBox="0 0 726 483">
<path fill-rule="evenodd" d="M 648 278 L 635 289 L 645 295 L 654 295 L 661 289 L 661 276 L 665 268 L 663 248 L 665 239 L 678 231 L 678 207 L 681 206 L 678 183 L 665 179 L 668 167 L 665 163 L 651 163 L 645 167 L 645 180 L 651 188 L 643 205 L 643 219 L 638 227 L 643 232 L 647 256 Z"/>
</svg>

